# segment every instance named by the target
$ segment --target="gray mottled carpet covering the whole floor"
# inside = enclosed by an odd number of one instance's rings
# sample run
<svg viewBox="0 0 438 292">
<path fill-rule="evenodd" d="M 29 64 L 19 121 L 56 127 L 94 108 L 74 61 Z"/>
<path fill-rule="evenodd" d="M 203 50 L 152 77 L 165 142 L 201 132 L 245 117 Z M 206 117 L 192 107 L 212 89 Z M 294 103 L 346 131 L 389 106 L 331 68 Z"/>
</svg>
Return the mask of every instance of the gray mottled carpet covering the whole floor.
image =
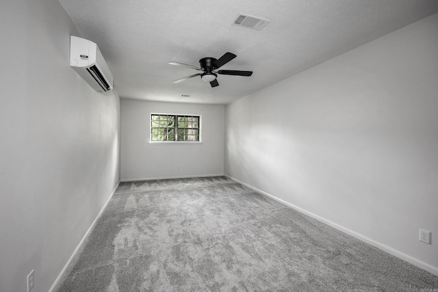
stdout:
<svg viewBox="0 0 438 292">
<path fill-rule="evenodd" d="M 57 291 L 438 291 L 438 277 L 220 176 L 120 183 Z"/>
</svg>

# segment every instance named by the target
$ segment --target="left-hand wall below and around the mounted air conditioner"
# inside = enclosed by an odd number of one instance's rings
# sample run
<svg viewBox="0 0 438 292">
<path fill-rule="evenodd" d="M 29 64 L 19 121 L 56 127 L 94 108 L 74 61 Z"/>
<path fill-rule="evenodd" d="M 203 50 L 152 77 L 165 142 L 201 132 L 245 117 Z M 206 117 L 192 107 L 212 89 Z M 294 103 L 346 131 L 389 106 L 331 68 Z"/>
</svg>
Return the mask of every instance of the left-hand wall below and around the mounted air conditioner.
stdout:
<svg viewBox="0 0 438 292">
<path fill-rule="evenodd" d="M 0 291 L 47 292 L 119 181 L 120 99 L 69 66 L 56 0 L 0 9 Z"/>
</svg>

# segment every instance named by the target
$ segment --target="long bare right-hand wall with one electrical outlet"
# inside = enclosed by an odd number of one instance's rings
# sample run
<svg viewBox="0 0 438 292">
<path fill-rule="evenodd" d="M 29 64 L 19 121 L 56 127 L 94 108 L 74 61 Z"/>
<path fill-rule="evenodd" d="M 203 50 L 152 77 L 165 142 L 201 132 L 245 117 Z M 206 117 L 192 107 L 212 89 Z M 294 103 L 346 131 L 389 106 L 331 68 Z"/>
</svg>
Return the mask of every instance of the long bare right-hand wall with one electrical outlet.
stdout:
<svg viewBox="0 0 438 292">
<path fill-rule="evenodd" d="M 437 53 L 435 14 L 227 105 L 225 174 L 438 274 Z"/>
</svg>

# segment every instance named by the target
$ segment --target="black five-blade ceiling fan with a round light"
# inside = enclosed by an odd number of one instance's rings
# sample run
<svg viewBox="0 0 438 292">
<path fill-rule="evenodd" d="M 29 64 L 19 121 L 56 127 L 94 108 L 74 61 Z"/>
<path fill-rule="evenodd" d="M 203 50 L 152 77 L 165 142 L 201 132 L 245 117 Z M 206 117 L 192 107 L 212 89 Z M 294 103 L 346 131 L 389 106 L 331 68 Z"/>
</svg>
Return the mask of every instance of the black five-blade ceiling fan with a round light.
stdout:
<svg viewBox="0 0 438 292">
<path fill-rule="evenodd" d="M 173 81 L 173 83 L 178 83 L 187 79 L 190 79 L 192 77 L 201 76 L 201 79 L 203 81 L 207 81 L 210 83 L 211 87 L 214 88 L 219 85 L 218 80 L 216 79 L 218 77 L 218 74 L 221 75 L 238 75 L 238 76 L 251 76 L 253 75 L 253 71 L 240 71 L 240 70 L 217 70 L 218 68 L 222 67 L 224 64 L 227 64 L 232 59 L 237 57 L 233 53 L 224 53 L 222 57 L 219 59 L 215 59 L 214 57 L 205 57 L 199 60 L 199 65 L 201 67 L 196 67 L 188 64 L 182 64 L 178 62 L 169 62 L 170 65 L 175 66 L 183 66 L 187 68 L 192 68 L 194 70 L 203 71 L 203 73 L 198 73 L 194 75 L 190 75 L 188 77 L 184 77 L 178 80 Z"/>
</svg>

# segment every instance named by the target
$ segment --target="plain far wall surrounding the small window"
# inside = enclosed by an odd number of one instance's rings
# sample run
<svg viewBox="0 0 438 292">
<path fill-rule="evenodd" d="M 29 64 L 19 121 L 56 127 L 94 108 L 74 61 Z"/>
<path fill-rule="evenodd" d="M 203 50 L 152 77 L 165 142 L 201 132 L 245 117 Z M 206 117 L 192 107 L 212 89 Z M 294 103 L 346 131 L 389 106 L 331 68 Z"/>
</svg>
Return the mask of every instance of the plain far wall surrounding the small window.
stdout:
<svg viewBox="0 0 438 292">
<path fill-rule="evenodd" d="M 201 115 L 202 143 L 149 143 L 151 113 Z M 121 116 L 123 181 L 224 173 L 224 105 L 123 99 Z"/>
</svg>

